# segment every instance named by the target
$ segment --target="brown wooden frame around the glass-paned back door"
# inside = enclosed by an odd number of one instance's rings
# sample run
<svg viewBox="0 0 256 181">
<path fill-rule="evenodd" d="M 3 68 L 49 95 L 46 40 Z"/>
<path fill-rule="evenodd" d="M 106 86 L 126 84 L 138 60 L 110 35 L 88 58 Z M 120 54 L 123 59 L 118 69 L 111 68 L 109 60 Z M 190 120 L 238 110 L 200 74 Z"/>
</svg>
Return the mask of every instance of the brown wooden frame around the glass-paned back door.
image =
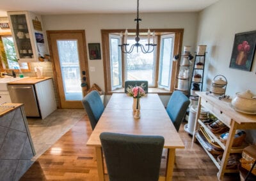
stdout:
<svg viewBox="0 0 256 181">
<path fill-rule="evenodd" d="M 87 51 L 86 51 L 86 38 L 85 38 L 85 31 L 84 30 L 54 30 L 54 31 L 46 31 L 47 33 L 47 41 L 48 41 L 48 45 L 49 45 L 49 52 L 50 55 L 52 55 L 52 45 L 51 45 L 51 34 L 61 34 L 61 33 L 81 33 L 82 37 L 83 37 L 83 50 L 84 50 L 84 60 L 85 60 L 85 71 L 86 71 L 86 83 L 88 85 L 88 89 L 90 89 L 90 76 L 89 76 L 89 68 L 88 68 L 88 59 L 87 59 Z M 57 74 L 56 74 L 56 68 L 54 66 L 54 57 L 51 56 L 51 62 L 52 62 L 52 70 L 53 70 L 53 76 L 54 76 L 54 84 L 56 86 L 56 92 L 57 92 L 57 97 L 58 97 L 58 101 L 57 101 L 57 107 L 61 108 L 61 101 L 60 101 L 60 91 L 59 91 L 59 87 L 58 87 L 58 81 L 57 81 Z M 82 76 L 82 75 L 80 75 Z M 87 92 L 83 92 L 83 94 L 86 94 Z M 85 96 L 84 94 L 84 96 Z"/>
</svg>

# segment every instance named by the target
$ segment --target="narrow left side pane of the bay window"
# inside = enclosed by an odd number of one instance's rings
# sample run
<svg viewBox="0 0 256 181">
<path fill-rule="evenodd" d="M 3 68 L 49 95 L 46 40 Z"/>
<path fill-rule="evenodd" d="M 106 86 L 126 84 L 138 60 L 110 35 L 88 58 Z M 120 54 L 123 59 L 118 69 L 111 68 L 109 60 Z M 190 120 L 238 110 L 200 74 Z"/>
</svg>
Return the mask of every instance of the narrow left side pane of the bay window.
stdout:
<svg viewBox="0 0 256 181">
<path fill-rule="evenodd" d="M 122 86 L 121 54 L 120 47 L 118 47 L 120 39 L 113 37 L 110 38 L 110 66 L 112 90 Z"/>
</svg>

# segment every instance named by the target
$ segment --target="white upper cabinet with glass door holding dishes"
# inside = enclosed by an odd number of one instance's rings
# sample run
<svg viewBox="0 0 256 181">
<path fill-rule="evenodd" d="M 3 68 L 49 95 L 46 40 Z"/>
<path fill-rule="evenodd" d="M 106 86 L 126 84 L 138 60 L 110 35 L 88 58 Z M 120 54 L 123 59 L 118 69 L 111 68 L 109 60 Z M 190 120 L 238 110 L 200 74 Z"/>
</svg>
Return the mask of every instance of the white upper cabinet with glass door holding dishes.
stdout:
<svg viewBox="0 0 256 181">
<path fill-rule="evenodd" d="M 44 61 L 48 53 L 40 15 L 31 11 L 7 13 L 19 62 Z"/>
</svg>

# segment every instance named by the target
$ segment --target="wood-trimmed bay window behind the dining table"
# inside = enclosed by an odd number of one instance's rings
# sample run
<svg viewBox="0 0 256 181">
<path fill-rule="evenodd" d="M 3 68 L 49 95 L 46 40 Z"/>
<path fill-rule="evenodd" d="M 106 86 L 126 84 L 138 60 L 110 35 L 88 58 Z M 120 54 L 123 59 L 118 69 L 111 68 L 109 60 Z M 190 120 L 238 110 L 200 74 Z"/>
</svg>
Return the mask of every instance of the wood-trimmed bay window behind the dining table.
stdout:
<svg viewBox="0 0 256 181">
<path fill-rule="evenodd" d="M 177 74 L 177 62 L 172 59 L 173 55 L 181 52 L 184 30 L 152 29 L 156 33 L 157 46 L 149 54 L 143 54 L 140 48 L 137 50 L 136 47 L 131 54 L 122 53 L 118 47 L 122 41 L 120 31 L 124 30 L 102 30 L 106 94 L 124 92 L 125 80 L 147 80 L 148 92 L 153 90 L 152 92 L 170 94 Z M 135 42 L 134 31 L 129 30 L 131 34 L 128 35 L 127 43 L 130 45 Z M 147 35 L 140 36 L 142 45 L 147 44 L 147 41 Z"/>
</svg>

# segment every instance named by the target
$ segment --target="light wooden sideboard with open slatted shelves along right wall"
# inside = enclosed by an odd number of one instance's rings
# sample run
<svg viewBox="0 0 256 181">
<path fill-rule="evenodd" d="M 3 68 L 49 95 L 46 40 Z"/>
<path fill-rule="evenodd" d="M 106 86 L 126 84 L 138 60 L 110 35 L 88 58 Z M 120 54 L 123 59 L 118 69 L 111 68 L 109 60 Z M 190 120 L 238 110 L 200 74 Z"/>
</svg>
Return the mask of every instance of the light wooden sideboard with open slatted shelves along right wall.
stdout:
<svg viewBox="0 0 256 181">
<path fill-rule="evenodd" d="M 219 180 L 221 180 L 224 173 L 239 172 L 239 170 L 236 169 L 226 168 L 230 154 L 241 153 L 243 152 L 243 148 L 246 147 L 245 142 L 240 147 L 233 147 L 232 145 L 234 142 L 234 136 L 237 129 L 256 129 L 256 115 L 247 115 L 236 112 L 230 105 L 230 99 L 220 100 L 218 97 L 206 93 L 207 92 L 196 92 L 196 94 L 199 96 L 199 99 L 195 129 L 193 133 L 193 141 L 196 140 L 196 133 L 200 126 L 202 126 L 204 127 L 205 131 L 207 131 L 207 133 L 209 133 L 211 137 L 214 138 L 220 147 L 223 148 L 224 152 L 220 164 L 216 160 L 216 157 L 212 156 L 212 154 L 205 149 L 205 152 L 209 155 L 209 157 L 211 157 L 213 163 L 219 169 L 217 176 Z M 220 135 L 213 134 L 204 124 L 204 122 L 199 119 L 202 106 L 229 127 L 228 138 L 225 144 L 220 141 Z"/>
</svg>

